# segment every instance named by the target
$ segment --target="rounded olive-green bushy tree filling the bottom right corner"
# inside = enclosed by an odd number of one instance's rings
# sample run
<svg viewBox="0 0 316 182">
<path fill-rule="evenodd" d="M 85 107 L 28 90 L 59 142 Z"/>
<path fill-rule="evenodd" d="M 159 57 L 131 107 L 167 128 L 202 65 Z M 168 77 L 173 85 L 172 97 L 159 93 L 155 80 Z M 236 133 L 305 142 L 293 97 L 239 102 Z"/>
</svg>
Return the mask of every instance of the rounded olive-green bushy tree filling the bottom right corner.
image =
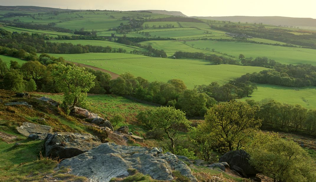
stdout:
<svg viewBox="0 0 316 182">
<path fill-rule="evenodd" d="M 315 180 L 315 164 L 307 152 L 277 133 L 258 132 L 247 151 L 250 163 L 273 181 Z"/>
</svg>

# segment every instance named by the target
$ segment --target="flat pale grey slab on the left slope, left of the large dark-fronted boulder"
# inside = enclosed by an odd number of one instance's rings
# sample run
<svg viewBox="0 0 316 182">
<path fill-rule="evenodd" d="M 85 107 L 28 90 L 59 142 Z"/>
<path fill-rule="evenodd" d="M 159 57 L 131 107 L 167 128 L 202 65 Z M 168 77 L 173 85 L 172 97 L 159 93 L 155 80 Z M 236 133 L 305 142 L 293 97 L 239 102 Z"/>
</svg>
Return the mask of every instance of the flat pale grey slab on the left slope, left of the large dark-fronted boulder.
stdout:
<svg viewBox="0 0 316 182">
<path fill-rule="evenodd" d="M 20 127 L 16 127 L 16 130 L 22 135 L 28 137 L 30 134 L 46 134 L 52 133 L 52 127 L 46 125 L 37 125 L 33 123 L 24 122 Z"/>
</svg>

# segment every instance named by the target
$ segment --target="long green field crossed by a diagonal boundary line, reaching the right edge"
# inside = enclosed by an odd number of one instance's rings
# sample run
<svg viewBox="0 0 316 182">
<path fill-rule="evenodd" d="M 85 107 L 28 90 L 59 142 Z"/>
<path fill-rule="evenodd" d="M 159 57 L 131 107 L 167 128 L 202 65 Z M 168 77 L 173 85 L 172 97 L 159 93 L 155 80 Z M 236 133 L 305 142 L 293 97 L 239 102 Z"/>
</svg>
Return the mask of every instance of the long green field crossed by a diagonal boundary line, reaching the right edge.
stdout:
<svg viewBox="0 0 316 182">
<path fill-rule="evenodd" d="M 203 50 L 205 48 L 210 48 L 235 57 L 238 57 L 240 54 L 253 58 L 265 56 L 282 64 L 303 63 L 316 65 L 316 50 L 314 49 L 218 40 L 187 40 L 187 45 L 183 44 L 182 46 L 180 42 L 177 41 L 146 41 L 142 44 L 150 44 L 155 49 L 165 50 L 168 56 L 170 54 L 173 55 L 175 51 L 203 52 L 205 54 L 213 54 L 212 51 Z M 192 44 L 194 44 L 193 47 L 195 49 L 190 47 Z"/>
</svg>

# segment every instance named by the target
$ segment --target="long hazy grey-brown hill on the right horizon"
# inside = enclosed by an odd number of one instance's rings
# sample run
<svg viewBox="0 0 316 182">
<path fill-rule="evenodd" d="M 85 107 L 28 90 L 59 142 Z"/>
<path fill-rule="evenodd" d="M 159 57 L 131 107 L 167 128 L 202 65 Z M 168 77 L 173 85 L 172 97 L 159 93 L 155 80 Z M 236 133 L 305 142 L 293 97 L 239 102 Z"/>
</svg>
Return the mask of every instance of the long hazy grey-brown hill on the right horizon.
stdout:
<svg viewBox="0 0 316 182">
<path fill-rule="evenodd" d="M 262 22 L 263 24 L 276 26 L 316 27 L 316 19 L 313 18 L 292 18 L 283 16 L 192 16 L 191 18 L 249 23 Z"/>
</svg>

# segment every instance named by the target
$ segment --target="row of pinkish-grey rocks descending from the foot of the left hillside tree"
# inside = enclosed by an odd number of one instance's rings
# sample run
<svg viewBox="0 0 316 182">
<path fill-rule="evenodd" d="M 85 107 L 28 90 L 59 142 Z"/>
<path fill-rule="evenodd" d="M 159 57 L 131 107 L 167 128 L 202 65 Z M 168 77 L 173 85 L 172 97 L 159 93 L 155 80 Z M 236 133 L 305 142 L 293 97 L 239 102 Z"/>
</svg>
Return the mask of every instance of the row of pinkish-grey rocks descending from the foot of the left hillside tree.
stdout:
<svg viewBox="0 0 316 182">
<path fill-rule="evenodd" d="M 71 111 L 78 117 L 84 118 L 87 122 L 93 123 L 96 125 L 99 125 L 100 127 L 108 127 L 113 131 L 113 126 L 110 123 L 110 121 L 105 120 L 104 118 L 101 118 L 98 116 L 98 114 L 92 113 L 88 111 L 87 109 L 79 108 L 79 107 L 74 107 Z"/>
</svg>

